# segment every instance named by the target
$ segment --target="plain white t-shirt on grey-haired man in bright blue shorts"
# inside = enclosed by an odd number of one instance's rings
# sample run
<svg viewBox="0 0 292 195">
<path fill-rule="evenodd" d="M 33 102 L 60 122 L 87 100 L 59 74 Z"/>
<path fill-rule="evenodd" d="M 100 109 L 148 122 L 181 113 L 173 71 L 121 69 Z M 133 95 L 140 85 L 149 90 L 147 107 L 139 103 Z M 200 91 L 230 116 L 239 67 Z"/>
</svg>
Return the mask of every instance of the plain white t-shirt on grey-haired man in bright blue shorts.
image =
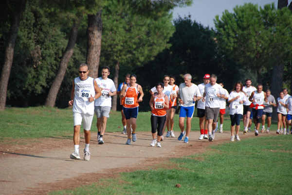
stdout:
<svg viewBox="0 0 292 195">
<path fill-rule="evenodd" d="M 183 106 L 183 107 L 195 106 L 195 103 L 193 100 L 194 96 L 202 97 L 198 86 L 194 83 L 192 83 L 192 85 L 189 87 L 186 86 L 184 82 L 181 83 L 179 87 L 179 94 L 183 100 L 183 104 L 180 104 L 180 106 Z"/>
</svg>

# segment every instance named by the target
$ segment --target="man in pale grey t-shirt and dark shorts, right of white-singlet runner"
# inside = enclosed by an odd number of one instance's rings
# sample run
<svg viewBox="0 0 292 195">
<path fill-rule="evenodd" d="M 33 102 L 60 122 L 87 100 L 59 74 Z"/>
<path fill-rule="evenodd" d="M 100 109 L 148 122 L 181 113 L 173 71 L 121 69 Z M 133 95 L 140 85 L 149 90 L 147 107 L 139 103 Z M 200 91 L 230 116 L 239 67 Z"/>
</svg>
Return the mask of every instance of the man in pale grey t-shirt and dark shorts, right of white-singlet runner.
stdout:
<svg viewBox="0 0 292 195">
<path fill-rule="evenodd" d="M 267 133 L 269 133 L 270 131 L 270 127 L 271 127 L 271 124 L 272 124 L 272 114 L 273 114 L 273 106 L 276 107 L 277 104 L 276 104 L 276 100 L 274 98 L 274 96 L 271 95 L 271 91 L 270 89 L 267 89 L 266 90 L 266 94 L 267 94 L 267 99 L 268 99 L 268 102 L 264 102 L 264 111 L 263 111 L 263 114 L 262 114 L 262 118 L 261 118 L 261 121 L 262 121 L 262 129 L 261 129 L 261 132 L 265 132 L 266 128 L 265 128 L 265 122 L 266 122 L 266 116 L 267 116 L 267 123 L 268 123 L 268 128 L 267 128 Z"/>
</svg>

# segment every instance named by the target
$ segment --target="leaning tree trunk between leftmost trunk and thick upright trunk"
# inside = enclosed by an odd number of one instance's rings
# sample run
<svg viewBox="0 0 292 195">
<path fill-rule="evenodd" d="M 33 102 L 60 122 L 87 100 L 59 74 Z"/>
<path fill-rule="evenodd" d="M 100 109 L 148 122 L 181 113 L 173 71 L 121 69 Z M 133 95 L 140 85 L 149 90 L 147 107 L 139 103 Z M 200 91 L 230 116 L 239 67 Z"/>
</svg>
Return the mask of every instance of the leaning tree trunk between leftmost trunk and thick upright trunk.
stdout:
<svg viewBox="0 0 292 195">
<path fill-rule="evenodd" d="M 70 35 L 69 35 L 67 47 L 63 53 L 63 56 L 62 56 L 60 64 L 59 64 L 58 73 L 55 77 L 55 80 L 53 81 L 53 83 L 51 85 L 49 94 L 48 94 L 47 99 L 46 99 L 45 106 L 47 106 L 47 107 L 54 107 L 55 106 L 56 98 L 57 98 L 60 86 L 62 84 L 62 81 L 64 79 L 64 76 L 65 76 L 65 73 L 66 73 L 66 70 L 67 70 L 67 67 L 69 64 L 69 60 L 73 55 L 74 46 L 75 46 L 76 39 L 77 39 L 78 26 L 79 26 L 80 21 L 81 21 L 81 18 L 78 18 L 73 23 L 73 27 L 72 27 Z"/>
</svg>

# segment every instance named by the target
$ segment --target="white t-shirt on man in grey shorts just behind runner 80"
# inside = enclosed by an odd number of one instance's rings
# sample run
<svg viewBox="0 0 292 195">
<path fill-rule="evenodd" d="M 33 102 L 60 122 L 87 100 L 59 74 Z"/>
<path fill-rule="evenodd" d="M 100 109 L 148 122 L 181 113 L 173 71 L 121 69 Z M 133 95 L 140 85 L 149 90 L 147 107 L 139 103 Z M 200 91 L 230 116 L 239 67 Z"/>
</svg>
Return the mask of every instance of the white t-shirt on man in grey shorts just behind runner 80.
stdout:
<svg viewBox="0 0 292 195">
<path fill-rule="evenodd" d="M 107 78 L 103 80 L 101 77 L 95 79 L 98 87 L 103 88 L 101 90 L 101 96 L 95 99 L 94 106 L 109 106 L 111 107 L 111 96 L 109 92 L 115 92 L 116 88 L 111 79 Z"/>
</svg>

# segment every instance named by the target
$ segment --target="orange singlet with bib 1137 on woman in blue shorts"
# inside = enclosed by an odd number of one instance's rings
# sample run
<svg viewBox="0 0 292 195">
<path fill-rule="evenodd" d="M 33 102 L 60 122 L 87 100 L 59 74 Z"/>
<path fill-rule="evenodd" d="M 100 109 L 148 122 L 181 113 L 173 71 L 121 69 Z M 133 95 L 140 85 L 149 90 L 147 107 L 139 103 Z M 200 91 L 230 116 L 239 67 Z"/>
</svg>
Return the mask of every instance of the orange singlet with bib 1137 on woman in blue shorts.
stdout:
<svg viewBox="0 0 292 195">
<path fill-rule="evenodd" d="M 124 101 L 123 106 L 125 108 L 136 108 L 136 107 L 138 107 L 139 106 L 139 103 L 137 101 L 138 100 L 138 94 L 139 94 L 138 84 L 136 83 L 136 86 L 131 88 L 129 83 L 128 83 L 125 92 L 126 92 L 126 97 L 125 97 L 125 101 Z"/>
</svg>

